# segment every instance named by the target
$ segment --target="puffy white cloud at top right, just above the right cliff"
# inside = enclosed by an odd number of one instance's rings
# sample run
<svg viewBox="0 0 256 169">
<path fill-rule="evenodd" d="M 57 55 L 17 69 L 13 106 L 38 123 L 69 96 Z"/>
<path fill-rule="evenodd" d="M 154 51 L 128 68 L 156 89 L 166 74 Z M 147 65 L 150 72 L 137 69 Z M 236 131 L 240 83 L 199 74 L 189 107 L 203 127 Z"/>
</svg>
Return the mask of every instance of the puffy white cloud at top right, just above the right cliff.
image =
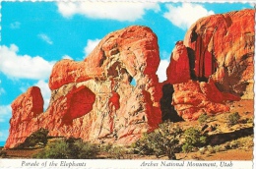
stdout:
<svg viewBox="0 0 256 169">
<path fill-rule="evenodd" d="M 168 12 L 163 17 L 169 20 L 173 25 L 187 29 L 198 19 L 215 14 L 214 11 L 208 11 L 203 6 L 191 3 L 182 3 L 181 6 L 175 7 L 170 4 L 166 5 Z"/>
</svg>

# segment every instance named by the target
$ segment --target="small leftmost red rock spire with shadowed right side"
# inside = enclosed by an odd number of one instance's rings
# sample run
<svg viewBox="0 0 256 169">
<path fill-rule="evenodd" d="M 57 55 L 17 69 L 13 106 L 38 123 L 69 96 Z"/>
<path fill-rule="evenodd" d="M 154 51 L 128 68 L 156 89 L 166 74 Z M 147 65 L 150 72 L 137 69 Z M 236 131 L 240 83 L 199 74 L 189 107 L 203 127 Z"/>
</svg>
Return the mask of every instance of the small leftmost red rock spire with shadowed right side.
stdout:
<svg viewBox="0 0 256 169">
<path fill-rule="evenodd" d="M 32 86 L 12 103 L 10 135 L 5 147 L 14 147 L 38 130 L 37 116 L 43 112 L 43 99 L 40 88 Z"/>
</svg>

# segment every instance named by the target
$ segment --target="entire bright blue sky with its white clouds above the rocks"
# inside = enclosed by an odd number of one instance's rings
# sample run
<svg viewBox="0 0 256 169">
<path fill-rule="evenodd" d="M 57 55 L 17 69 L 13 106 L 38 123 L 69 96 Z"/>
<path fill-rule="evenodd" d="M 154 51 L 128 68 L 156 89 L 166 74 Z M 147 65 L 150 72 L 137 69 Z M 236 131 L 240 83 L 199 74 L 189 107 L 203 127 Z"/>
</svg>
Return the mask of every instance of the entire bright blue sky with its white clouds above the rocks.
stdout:
<svg viewBox="0 0 256 169">
<path fill-rule="evenodd" d="M 0 141 L 6 141 L 12 101 L 37 85 L 47 107 L 48 78 L 63 58 L 81 61 L 107 33 L 132 25 L 158 35 L 160 82 L 177 40 L 197 19 L 244 8 L 241 3 L 2 2 L 0 47 Z"/>
</svg>

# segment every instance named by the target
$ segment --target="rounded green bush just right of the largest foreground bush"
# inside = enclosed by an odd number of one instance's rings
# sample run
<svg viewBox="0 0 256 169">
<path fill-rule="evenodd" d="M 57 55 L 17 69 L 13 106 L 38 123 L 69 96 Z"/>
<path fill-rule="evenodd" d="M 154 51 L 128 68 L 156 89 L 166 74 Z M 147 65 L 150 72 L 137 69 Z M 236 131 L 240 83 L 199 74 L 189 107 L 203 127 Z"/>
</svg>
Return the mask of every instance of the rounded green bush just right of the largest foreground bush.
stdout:
<svg viewBox="0 0 256 169">
<path fill-rule="evenodd" d="M 185 141 L 182 145 L 183 152 L 190 152 L 194 147 L 200 147 L 206 143 L 207 137 L 194 127 L 188 128 L 184 133 Z"/>
</svg>

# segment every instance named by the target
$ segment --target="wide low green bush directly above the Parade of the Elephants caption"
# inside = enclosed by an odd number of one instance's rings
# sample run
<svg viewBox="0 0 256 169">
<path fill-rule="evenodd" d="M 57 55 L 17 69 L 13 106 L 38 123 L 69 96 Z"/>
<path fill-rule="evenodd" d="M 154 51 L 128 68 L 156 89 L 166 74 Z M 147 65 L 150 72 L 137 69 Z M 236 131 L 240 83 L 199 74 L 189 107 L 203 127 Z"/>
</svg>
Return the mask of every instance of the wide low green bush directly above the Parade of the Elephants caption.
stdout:
<svg viewBox="0 0 256 169">
<path fill-rule="evenodd" d="M 36 153 L 34 158 L 53 159 L 93 159 L 96 158 L 98 148 L 96 144 L 90 142 L 77 141 L 53 141 L 45 148 Z"/>
</svg>

